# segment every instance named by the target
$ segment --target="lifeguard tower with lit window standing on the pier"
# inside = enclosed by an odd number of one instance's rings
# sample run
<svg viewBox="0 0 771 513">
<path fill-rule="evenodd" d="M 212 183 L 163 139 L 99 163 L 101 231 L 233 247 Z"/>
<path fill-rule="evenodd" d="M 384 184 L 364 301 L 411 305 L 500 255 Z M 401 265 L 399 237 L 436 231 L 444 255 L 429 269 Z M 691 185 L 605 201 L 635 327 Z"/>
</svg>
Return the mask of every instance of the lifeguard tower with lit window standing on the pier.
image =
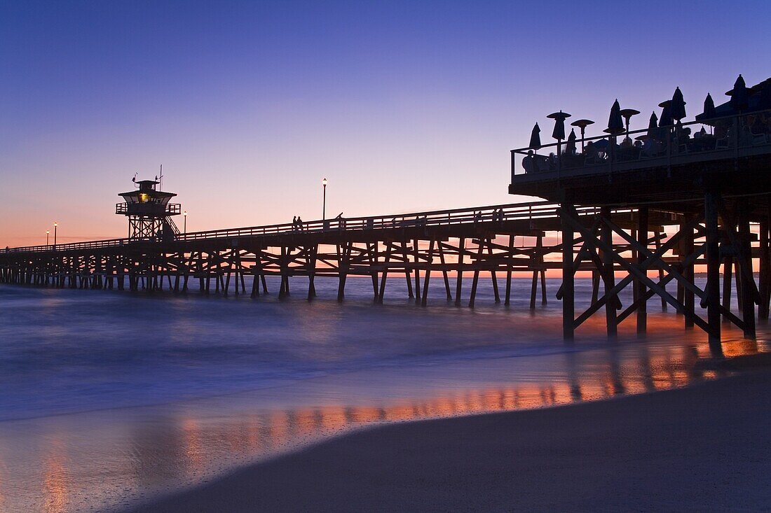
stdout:
<svg viewBox="0 0 771 513">
<path fill-rule="evenodd" d="M 180 203 L 169 203 L 175 193 L 164 193 L 157 189 L 160 182 L 140 180 L 135 182 L 138 189 L 120 193 L 124 203 L 117 203 L 115 213 L 128 216 L 129 238 L 132 240 L 170 241 L 180 230 L 171 216 L 181 212 Z"/>
</svg>

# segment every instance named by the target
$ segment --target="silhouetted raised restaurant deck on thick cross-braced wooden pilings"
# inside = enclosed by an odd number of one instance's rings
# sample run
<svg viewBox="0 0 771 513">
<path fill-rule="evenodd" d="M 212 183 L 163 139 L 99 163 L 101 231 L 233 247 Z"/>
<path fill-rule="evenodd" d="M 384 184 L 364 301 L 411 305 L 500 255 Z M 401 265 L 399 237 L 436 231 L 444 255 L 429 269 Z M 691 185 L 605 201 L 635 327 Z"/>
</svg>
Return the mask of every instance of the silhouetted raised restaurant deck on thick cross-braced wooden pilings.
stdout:
<svg viewBox="0 0 771 513">
<path fill-rule="evenodd" d="M 564 122 L 566 116 L 561 116 Z M 695 136 L 690 135 L 692 130 Z M 536 126 L 534 136 L 537 131 Z M 721 317 L 754 337 L 755 305 L 759 317 L 766 319 L 771 297 L 771 110 L 709 119 L 702 115 L 699 121 L 658 127 L 653 123 L 648 130 L 634 132 L 609 126 L 606 132 L 610 135 L 585 139 L 571 134 L 569 143 L 558 140 L 547 146 L 541 146 L 536 137 L 529 148 L 511 152 L 509 193 L 561 204 L 564 336 L 572 338 L 575 328 L 601 307 L 605 307 L 608 334 L 614 336 L 618 308 L 607 305 L 618 303 L 618 292 L 634 283 L 635 304 L 629 308 L 637 310 L 641 332 L 645 332 L 645 303 L 658 295 L 685 315 L 687 327 L 705 330 L 715 351 L 719 351 Z M 559 134 L 557 129 L 555 133 Z M 538 149 L 550 155 L 538 156 Z M 578 222 L 577 207 L 599 209 L 593 226 Z M 620 207 L 636 213 L 636 230 L 623 230 L 613 222 L 611 210 Z M 683 220 L 678 231 L 655 250 L 648 237 L 651 210 L 675 213 Z M 630 244 L 631 253 L 619 253 L 614 240 Z M 678 261 L 667 259 L 670 250 Z M 708 275 L 703 290 L 693 280 L 702 256 Z M 753 267 L 755 258 L 759 263 Z M 605 294 L 593 298 L 592 307 L 576 318 L 574 273 L 584 261 L 594 263 Z M 624 273 L 617 282 L 618 267 Z M 759 283 L 754 269 L 759 269 Z M 658 273 L 658 281 L 648 277 L 651 271 Z M 740 316 L 730 311 L 734 273 Z M 677 297 L 666 290 L 669 281 L 678 283 Z M 698 307 L 706 310 L 706 320 L 699 316 Z M 622 318 L 631 313 L 629 308 Z"/>
</svg>

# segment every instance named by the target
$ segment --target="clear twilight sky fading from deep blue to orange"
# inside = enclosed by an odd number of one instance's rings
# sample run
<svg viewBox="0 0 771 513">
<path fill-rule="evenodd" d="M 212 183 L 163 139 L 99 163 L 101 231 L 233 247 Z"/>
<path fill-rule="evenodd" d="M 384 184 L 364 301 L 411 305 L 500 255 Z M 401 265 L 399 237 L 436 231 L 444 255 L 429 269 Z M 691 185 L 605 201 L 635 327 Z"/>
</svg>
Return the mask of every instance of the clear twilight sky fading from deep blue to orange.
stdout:
<svg viewBox="0 0 771 513">
<path fill-rule="evenodd" d="M 771 76 L 771 2 L 0 0 L 0 246 L 125 236 L 153 178 L 188 231 L 495 205 L 547 114 L 687 119 Z M 720 98 L 720 99 L 719 99 Z M 660 109 L 657 109 L 657 111 Z M 568 119 L 570 122 L 571 119 Z M 598 135 L 588 130 L 588 136 Z M 178 223 L 180 224 L 180 223 Z"/>
</svg>

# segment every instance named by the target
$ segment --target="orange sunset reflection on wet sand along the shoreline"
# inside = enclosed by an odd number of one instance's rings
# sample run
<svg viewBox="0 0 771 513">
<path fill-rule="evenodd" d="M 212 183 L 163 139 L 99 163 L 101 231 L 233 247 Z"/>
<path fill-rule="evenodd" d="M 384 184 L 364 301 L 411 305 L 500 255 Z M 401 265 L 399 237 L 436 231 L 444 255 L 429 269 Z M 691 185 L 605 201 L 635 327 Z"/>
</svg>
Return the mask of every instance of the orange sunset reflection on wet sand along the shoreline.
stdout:
<svg viewBox="0 0 771 513">
<path fill-rule="evenodd" d="M 769 350 L 766 345 L 736 340 L 724 344 L 724 350 L 739 356 Z M 87 450 L 76 430 L 59 430 L 56 436 L 44 437 L 45 443 L 29 445 L 41 452 L 39 497 L 9 493 L 29 488 L 29 483 L 15 483 L 14 472 L 0 468 L 0 505 L 4 511 L 77 511 L 93 505 L 94 498 L 96 504 L 113 508 L 130 505 L 158 492 L 207 481 L 237 464 L 368 424 L 549 407 L 717 377 L 699 365 L 705 357 L 709 350 L 704 344 L 610 346 L 594 351 L 591 360 L 577 352 L 558 355 L 564 363 L 561 374 L 545 381 L 517 377 L 508 383 L 468 384 L 424 397 L 369 404 L 331 401 L 251 410 L 223 406 L 217 414 L 193 402 L 160 414 L 122 417 L 113 426 L 114 436 L 89 441 Z M 74 478 L 89 475 L 83 469 L 94 461 L 105 461 L 109 478 L 93 472 L 91 479 Z"/>
</svg>

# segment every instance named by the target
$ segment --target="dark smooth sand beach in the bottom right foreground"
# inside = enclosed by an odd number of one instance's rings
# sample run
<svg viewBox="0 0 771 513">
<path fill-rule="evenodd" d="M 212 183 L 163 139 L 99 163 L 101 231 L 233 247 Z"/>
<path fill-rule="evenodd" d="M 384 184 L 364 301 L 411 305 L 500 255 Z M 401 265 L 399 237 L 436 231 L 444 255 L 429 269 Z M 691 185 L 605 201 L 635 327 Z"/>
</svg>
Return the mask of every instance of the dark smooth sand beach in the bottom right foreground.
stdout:
<svg viewBox="0 0 771 513">
<path fill-rule="evenodd" d="M 386 424 L 132 511 L 767 511 L 771 371 Z"/>
</svg>

